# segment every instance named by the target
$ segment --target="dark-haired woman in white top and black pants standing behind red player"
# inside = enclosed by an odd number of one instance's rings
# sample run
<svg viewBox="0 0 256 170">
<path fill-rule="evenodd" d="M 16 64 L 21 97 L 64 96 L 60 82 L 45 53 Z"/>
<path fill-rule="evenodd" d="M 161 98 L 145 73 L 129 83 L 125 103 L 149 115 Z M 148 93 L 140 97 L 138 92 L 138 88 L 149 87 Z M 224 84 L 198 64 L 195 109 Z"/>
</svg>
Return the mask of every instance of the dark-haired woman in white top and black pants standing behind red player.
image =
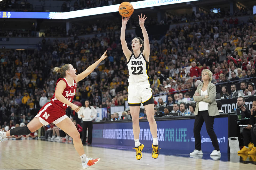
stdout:
<svg viewBox="0 0 256 170">
<path fill-rule="evenodd" d="M 92 142 L 93 137 L 93 119 L 97 116 L 97 111 L 93 106 L 90 106 L 90 101 L 85 100 L 85 106 L 81 107 L 77 112 L 78 118 L 83 120 L 83 135 L 82 143 L 86 144 L 86 133 L 88 128 L 88 145 Z"/>
</svg>

